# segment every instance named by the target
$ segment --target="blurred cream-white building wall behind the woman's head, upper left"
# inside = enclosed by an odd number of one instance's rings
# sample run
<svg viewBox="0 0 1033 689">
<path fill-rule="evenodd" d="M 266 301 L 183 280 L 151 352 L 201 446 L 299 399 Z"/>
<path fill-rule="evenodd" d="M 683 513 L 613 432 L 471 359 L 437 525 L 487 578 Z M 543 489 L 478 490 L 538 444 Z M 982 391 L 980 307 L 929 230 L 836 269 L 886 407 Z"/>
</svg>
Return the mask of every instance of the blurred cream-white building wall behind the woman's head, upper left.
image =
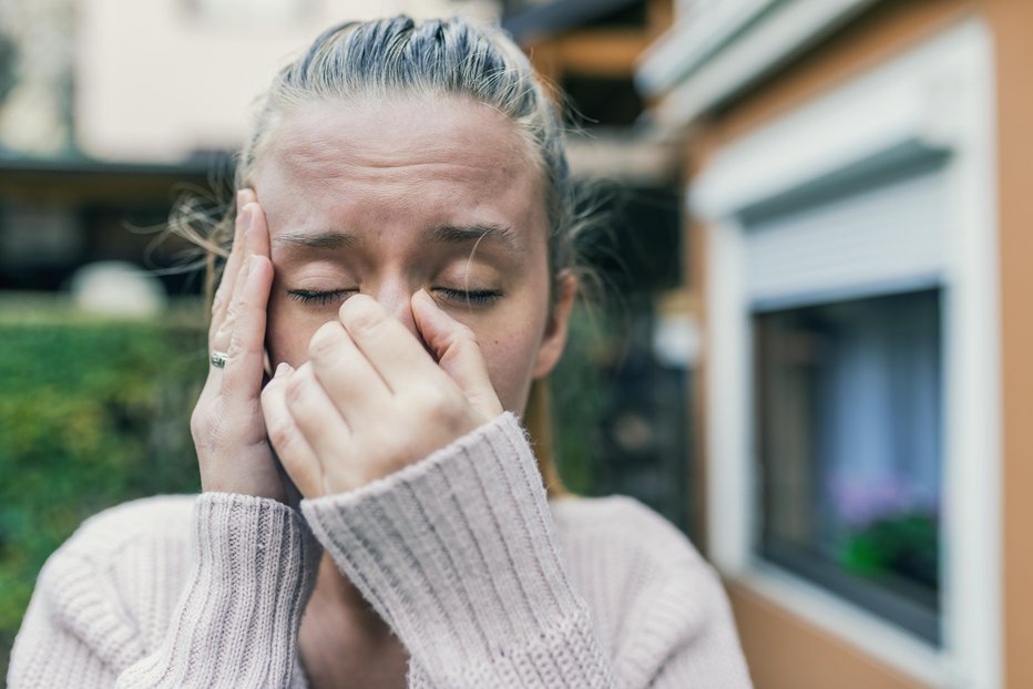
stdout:
<svg viewBox="0 0 1033 689">
<path fill-rule="evenodd" d="M 285 13 L 288 4 L 303 9 Z M 79 144 L 99 158 L 154 162 L 238 146 L 276 69 L 334 23 L 497 12 L 485 0 L 89 0 L 78 9 Z"/>
</svg>

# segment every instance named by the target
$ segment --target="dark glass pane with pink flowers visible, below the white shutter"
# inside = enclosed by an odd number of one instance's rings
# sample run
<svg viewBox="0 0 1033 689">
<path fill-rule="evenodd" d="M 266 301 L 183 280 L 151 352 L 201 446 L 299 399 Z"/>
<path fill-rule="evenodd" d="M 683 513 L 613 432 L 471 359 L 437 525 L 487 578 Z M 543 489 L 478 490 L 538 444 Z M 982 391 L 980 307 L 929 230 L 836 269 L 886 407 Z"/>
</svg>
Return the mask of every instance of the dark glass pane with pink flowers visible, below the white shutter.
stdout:
<svg viewBox="0 0 1033 689">
<path fill-rule="evenodd" d="M 939 644 L 940 290 L 754 333 L 761 554 Z"/>
</svg>

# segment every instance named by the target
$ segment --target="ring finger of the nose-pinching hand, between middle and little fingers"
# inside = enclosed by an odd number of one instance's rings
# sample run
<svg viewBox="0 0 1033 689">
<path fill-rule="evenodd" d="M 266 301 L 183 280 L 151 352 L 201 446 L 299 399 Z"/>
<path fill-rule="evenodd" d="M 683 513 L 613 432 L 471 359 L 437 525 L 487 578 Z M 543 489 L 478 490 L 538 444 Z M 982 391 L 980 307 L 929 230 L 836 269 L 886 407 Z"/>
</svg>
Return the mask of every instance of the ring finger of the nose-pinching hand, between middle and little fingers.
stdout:
<svg viewBox="0 0 1033 689">
<path fill-rule="evenodd" d="M 323 467 L 336 471 L 346 465 L 351 429 L 316 380 L 311 364 L 306 363 L 290 376 L 285 399 L 287 411 Z"/>
</svg>

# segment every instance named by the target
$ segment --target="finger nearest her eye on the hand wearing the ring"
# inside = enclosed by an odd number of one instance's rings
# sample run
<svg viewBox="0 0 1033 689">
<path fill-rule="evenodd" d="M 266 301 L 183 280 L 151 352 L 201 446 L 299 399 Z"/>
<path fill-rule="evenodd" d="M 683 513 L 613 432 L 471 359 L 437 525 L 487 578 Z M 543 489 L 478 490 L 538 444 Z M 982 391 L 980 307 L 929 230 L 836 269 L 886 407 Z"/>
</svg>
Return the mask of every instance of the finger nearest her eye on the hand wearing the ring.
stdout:
<svg viewBox="0 0 1033 689">
<path fill-rule="evenodd" d="M 258 255 L 248 257 L 223 371 L 223 395 L 231 402 L 258 397 L 265 368 L 266 306 L 272 285 L 273 264 L 269 259 Z"/>
</svg>

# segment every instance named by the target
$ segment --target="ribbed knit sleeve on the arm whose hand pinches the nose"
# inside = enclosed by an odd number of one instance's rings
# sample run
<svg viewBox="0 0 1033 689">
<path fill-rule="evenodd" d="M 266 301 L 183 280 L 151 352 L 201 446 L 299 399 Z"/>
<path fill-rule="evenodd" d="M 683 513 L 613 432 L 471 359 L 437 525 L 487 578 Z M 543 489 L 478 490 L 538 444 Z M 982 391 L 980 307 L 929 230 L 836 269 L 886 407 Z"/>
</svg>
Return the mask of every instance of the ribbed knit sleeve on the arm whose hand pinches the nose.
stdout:
<svg viewBox="0 0 1033 689">
<path fill-rule="evenodd" d="M 512 414 L 301 510 L 410 654 L 411 687 L 610 687 Z"/>
</svg>

